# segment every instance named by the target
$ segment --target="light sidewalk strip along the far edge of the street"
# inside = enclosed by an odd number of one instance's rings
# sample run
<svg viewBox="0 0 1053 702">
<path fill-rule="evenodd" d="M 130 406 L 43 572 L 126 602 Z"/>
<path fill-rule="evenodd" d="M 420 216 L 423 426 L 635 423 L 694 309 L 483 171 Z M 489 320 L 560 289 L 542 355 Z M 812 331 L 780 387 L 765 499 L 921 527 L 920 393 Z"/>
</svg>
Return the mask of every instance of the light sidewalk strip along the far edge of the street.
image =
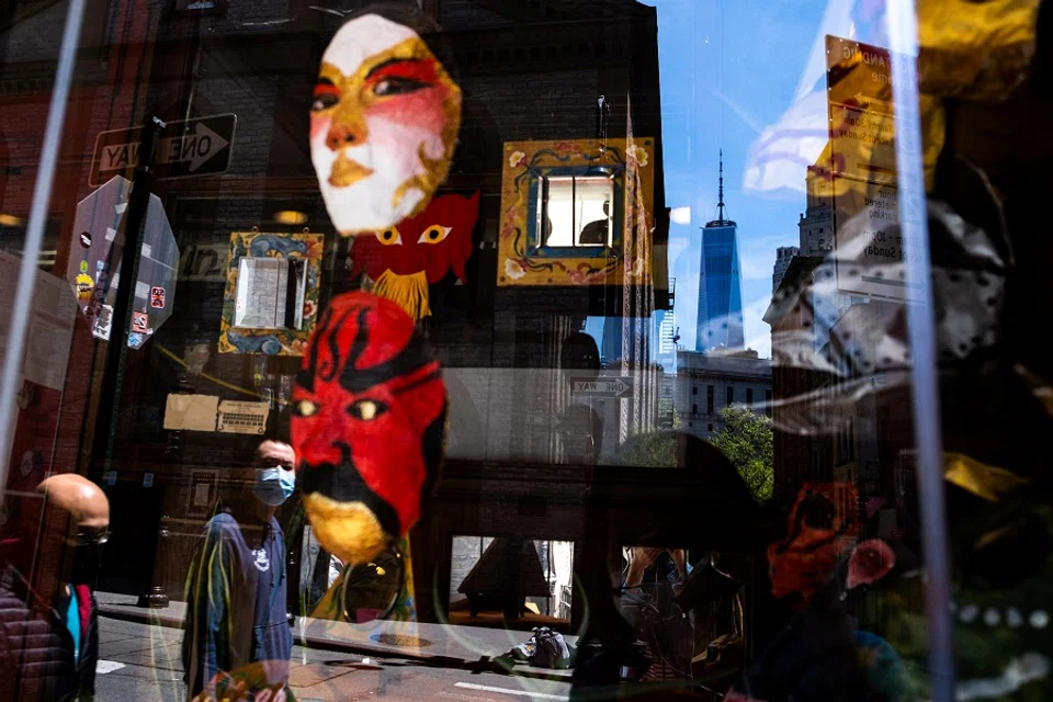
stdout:
<svg viewBox="0 0 1053 702">
<path fill-rule="evenodd" d="M 181 629 L 186 604 L 171 602 L 166 608 L 146 609 L 136 605 L 133 595 L 95 592 L 99 614 L 111 619 Z M 530 637 L 530 632 L 453 624 L 414 624 L 409 622 L 371 622 L 349 624 L 310 618 L 297 618 L 293 632 L 296 643 L 306 648 L 351 653 L 376 658 L 419 660 L 441 668 L 486 668 L 490 661 L 516 644 Z M 574 645 L 576 636 L 566 637 Z M 517 665 L 509 675 L 525 678 L 570 682 L 569 670 L 552 670 Z"/>
</svg>

